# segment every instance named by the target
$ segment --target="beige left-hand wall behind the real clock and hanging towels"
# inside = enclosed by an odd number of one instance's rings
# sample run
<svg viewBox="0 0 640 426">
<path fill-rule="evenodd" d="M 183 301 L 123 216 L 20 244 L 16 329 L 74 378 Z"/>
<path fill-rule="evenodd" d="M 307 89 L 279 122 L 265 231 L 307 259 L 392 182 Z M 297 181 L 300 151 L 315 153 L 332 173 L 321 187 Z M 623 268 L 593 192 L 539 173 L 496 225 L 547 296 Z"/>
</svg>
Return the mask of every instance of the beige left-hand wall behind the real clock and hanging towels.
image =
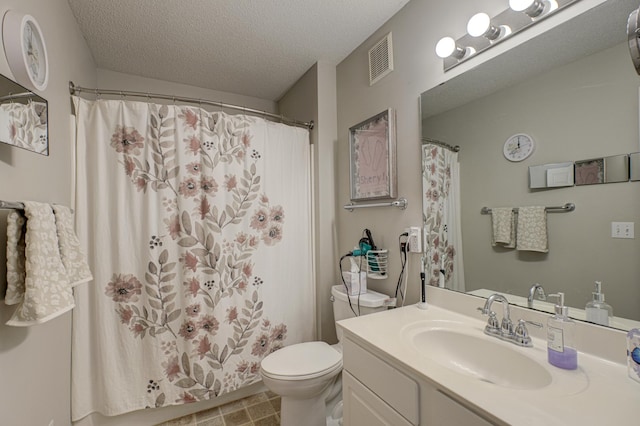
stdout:
<svg viewBox="0 0 640 426">
<path fill-rule="evenodd" d="M 69 80 L 93 85 L 95 65 L 66 0 L 2 0 L 36 18 L 45 36 L 50 77 L 39 93 L 49 102 L 48 157 L 0 144 L 0 199 L 71 202 Z M 0 54 L 0 73 L 12 78 Z M 0 212 L 0 258 L 6 246 L 6 211 Z M 4 262 L 0 293 L 4 294 Z M 13 307 L 0 302 L 0 423 L 16 426 L 67 425 L 70 418 L 71 314 L 36 327 L 8 327 Z"/>
</svg>

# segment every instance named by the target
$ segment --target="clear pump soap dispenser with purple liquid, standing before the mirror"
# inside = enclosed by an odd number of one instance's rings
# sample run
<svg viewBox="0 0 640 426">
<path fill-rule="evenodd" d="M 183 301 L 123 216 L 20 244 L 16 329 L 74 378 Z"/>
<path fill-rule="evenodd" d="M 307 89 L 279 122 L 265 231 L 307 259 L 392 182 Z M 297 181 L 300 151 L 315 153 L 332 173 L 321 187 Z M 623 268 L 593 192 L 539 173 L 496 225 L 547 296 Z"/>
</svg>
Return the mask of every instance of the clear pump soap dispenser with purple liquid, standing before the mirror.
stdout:
<svg viewBox="0 0 640 426">
<path fill-rule="evenodd" d="M 578 368 L 578 351 L 574 344 L 576 323 L 569 318 L 569 308 L 564 306 L 564 293 L 550 294 L 557 297 L 556 314 L 547 321 L 547 359 L 549 364 L 565 370 Z"/>
</svg>

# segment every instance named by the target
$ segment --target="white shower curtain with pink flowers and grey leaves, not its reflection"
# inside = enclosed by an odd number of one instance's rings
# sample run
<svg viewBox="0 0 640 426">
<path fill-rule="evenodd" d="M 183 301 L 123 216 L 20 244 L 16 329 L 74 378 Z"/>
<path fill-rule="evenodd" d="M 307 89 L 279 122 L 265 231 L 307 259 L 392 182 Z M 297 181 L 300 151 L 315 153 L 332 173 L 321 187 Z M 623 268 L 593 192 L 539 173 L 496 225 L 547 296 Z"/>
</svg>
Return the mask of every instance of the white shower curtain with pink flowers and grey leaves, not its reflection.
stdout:
<svg viewBox="0 0 640 426">
<path fill-rule="evenodd" d="M 213 399 L 312 340 L 306 129 L 73 97 L 78 234 L 72 418 Z"/>
</svg>

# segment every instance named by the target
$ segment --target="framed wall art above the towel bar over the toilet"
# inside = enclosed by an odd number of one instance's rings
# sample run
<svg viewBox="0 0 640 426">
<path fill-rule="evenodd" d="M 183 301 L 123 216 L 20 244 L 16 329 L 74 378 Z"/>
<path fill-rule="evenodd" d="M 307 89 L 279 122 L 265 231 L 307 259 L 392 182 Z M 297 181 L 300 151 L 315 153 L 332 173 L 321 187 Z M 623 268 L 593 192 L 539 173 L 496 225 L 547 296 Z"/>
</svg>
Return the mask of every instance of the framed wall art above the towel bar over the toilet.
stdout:
<svg viewBox="0 0 640 426">
<path fill-rule="evenodd" d="M 396 126 L 389 108 L 349 129 L 351 200 L 395 198 Z"/>
</svg>

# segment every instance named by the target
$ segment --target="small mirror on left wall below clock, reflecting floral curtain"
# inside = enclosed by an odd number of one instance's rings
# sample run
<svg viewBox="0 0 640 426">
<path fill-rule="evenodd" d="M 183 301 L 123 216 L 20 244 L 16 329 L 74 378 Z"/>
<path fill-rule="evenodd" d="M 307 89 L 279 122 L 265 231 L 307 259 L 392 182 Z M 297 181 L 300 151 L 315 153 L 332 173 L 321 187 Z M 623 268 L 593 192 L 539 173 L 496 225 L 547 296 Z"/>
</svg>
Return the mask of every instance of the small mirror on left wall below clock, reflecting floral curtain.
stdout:
<svg viewBox="0 0 640 426">
<path fill-rule="evenodd" d="M 47 101 L 0 75 L 0 142 L 49 155 Z"/>
</svg>

